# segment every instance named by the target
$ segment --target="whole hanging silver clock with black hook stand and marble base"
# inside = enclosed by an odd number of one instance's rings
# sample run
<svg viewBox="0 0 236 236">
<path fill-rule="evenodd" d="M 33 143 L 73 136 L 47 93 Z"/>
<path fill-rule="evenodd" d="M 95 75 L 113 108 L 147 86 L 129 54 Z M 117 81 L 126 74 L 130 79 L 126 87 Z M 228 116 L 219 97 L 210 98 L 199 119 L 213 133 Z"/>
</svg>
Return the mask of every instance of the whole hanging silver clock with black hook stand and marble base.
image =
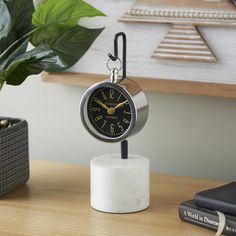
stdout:
<svg viewBox="0 0 236 236">
<path fill-rule="evenodd" d="M 123 39 L 122 62 L 118 57 L 120 36 Z M 95 138 L 120 142 L 121 155 L 102 155 L 90 162 L 90 203 L 99 211 L 130 213 L 149 206 L 149 161 L 142 156 L 128 155 L 126 140 L 144 127 L 148 117 L 148 101 L 139 85 L 126 77 L 124 32 L 115 35 L 114 55 L 109 53 L 108 57 L 110 79 L 96 83 L 85 91 L 80 102 L 80 117 L 84 127 Z M 119 75 L 121 69 L 122 76 Z M 137 186 L 141 188 L 137 189 Z M 139 204 L 137 199 L 141 199 Z"/>
</svg>

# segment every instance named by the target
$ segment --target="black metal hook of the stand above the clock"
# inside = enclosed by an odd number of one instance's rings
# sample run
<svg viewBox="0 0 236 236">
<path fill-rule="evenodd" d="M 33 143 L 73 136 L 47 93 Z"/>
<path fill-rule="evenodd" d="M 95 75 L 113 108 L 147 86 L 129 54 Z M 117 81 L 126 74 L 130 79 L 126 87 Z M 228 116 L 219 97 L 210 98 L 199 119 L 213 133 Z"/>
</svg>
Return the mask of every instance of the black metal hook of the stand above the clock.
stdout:
<svg viewBox="0 0 236 236">
<path fill-rule="evenodd" d="M 119 32 L 115 35 L 114 39 L 114 56 L 109 53 L 108 57 L 112 61 L 116 61 L 118 58 L 118 38 L 122 36 L 123 38 L 123 55 L 122 55 L 122 69 L 123 69 L 123 79 L 126 78 L 126 50 L 127 50 L 127 40 L 124 32 Z"/>
</svg>

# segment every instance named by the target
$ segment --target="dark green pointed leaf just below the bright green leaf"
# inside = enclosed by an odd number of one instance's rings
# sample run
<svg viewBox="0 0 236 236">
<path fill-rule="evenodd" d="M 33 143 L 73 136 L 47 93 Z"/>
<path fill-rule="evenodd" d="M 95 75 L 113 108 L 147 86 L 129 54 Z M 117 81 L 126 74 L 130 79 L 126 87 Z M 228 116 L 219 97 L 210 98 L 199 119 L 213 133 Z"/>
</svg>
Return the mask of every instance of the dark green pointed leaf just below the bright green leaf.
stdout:
<svg viewBox="0 0 236 236">
<path fill-rule="evenodd" d="M 45 43 L 50 45 L 52 50 L 71 67 L 86 53 L 102 30 L 103 28 L 89 29 L 76 25 L 66 31 L 62 30 L 57 37 L 45 40 Z M 58 70 L 52 68 L 48 71 Z"/>
</svg>

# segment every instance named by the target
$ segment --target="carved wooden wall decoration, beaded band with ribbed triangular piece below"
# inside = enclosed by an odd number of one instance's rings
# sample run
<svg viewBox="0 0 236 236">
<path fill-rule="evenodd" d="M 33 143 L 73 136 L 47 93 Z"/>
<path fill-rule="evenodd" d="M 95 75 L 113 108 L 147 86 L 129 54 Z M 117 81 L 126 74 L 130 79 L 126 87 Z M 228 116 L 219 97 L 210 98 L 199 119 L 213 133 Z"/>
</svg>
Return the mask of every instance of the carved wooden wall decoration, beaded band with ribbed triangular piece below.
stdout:
<svg viewBox="0 0 236 236">
<path fill-rule="evenodd" d="M 216 63 L 216 56 L 196 26 L 236 26 L 236 8 L 231 1 L 138 0 L 120 21 L 173 23 L 154 58 Z"/>
</svg>

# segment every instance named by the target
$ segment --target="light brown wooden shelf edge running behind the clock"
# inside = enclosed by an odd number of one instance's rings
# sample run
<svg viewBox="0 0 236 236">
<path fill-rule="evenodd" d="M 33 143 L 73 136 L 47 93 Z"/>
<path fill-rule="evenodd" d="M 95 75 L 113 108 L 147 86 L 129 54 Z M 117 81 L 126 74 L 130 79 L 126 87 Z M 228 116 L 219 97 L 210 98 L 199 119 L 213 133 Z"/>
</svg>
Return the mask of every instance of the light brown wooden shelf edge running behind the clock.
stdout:
<svg viewBox="0 0 236 236">
<path fill-rule="evenodd" d="M 42 74 L 45 82 L 62 83 L 68 85 L 90 86 L 96 82 L 108 78 L 107 75 L 86 73 L 46 73 Z M 129 77 L 135 80 L 146 91 L 158 91 L 165 93 L 198 94 L 236 98 L 236 84 L 222 84 L 209 82 L 194 82 L 184 80 L 150 79 Z"/>
</svg>

